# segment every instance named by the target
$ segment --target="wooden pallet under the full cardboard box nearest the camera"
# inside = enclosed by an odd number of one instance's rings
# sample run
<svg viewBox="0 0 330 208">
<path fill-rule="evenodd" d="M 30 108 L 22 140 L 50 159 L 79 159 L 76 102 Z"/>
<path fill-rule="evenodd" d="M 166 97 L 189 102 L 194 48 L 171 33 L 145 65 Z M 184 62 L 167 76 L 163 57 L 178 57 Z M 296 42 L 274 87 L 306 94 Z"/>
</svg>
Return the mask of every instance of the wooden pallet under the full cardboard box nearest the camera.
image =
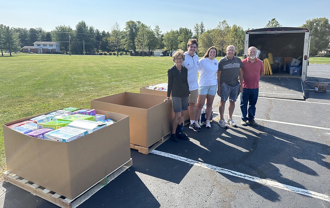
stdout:
<svg viewBox="0 0 330 208">
<path fill-rule="evenodd" d="M 25 191 L 30 192 L 33 195 L 37 195 L 59 207 L 62 208 L 75 208 L 86 201 L 89 197 L 99 191 L 102 187 L 107 185 L 110 181 L 115 179 L 118 175 L 124 172 L 126 169 L 132 166 L 132 158 L 128 160 L 125 164 L 120 166 L 118 169 L 114 170 L 108 176 L 101 179 L 99 182 L 91 186 L 89 189 L 84 191 L 82 194 L 77 196 L 74 199 L 66 198 L 65 196 L 56 194 L 44 187 L 39 186 L 31 181 L 28 181 L 24 178 L 19 177 L 16 174 L 13 174 L 9 171 L 5 171 L 2 173 L 4 181 L 9 182 L 15 186 L 18 186 Z"/>
</svg>

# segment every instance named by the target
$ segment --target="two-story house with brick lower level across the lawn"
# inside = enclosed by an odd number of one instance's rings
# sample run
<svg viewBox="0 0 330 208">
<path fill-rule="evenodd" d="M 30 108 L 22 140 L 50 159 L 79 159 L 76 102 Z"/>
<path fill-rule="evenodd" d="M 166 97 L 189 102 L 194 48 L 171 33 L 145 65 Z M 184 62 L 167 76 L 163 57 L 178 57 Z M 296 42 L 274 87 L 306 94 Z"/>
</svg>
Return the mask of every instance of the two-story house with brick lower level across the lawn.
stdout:
<svg viewBox="0 0 330 208">
<path fill-rule="evenodd" d="M 24 46 L 22 51 L 25 53 L 55 53 L 60 52 L 59 42 L 48 42 L 48 41 L 36 41 L 33 43 L 34 46 Z"/>
</svg>

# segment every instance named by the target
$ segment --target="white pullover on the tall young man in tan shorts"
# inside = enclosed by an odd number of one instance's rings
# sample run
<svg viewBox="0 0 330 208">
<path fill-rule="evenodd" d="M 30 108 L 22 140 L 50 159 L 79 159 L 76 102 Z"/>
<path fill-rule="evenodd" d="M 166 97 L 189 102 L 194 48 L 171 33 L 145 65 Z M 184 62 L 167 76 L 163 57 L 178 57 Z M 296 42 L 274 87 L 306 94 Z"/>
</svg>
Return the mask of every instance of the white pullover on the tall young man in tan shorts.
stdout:
<svg viewBox="0 0 330 208">
<path fill-rule="evenodd" d="M 188 69 L 188 85 L 189 90 L 197 90 L 197 70 L 198 70 L 198 55 L 195 53 L 194 56 L 190 56 L 188 51 L 184 52 L 185 58 L 182 63 L 182 66 Z"/>
</svg>

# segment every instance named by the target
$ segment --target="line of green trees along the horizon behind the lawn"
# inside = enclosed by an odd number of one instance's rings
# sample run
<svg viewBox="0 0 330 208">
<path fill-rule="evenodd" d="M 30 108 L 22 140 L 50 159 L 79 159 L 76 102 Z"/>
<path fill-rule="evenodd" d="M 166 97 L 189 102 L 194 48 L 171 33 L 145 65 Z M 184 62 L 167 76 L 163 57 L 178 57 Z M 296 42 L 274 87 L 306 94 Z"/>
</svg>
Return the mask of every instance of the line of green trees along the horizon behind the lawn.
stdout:
<svg viewBox="0 0 330 208">
<path fill-rule="evenodd" d="M 275 19 L 271 19 L 265 27 L 281 27 Z M 326 17 L 312 18 L 306 20 L 301 27 L 312 31 L 310 55 L 317 55 L 320 51 L 329 47 L 330 24 Z M 253 28 L 248 28 L 250 30 Z M 224 56 L 227 45 L 236 47 L 236 55 L 242 55 L 244 50 L 245 31 L 239 25 L 230 26 L 226 20 L 218 23 L 214 29 L 205 29 L 204 23 L 196 23 L 193 30 L 180 27 L 178 30 L 170 30 L 163 33 L 158 25 L 154 28 L 141 21 L 127 21 L 123 29 L 115 23 L 108 32 L 95 29 L 87 25 L 85 21 L 77 23 L 73 29 L 70 26 L 59 25 L 52 31 L 46 32 L 42 28 L 10 28 L 0 25 L 0 49 L 20 50 L 23 46 L 33 46 L 35 41 L 53 41 L 60 43 L 63 53 L 72 54 L 95 54 L 100 51 L 115 51 L 117 56 L 134 51 L 144 52 L 150 56 L 155 49 L 168 51 L 170 56 L 177 49 L 186 49 L 189 39 L 198 39 L 198 53 L 204 54 L 211 46 L 219 51 L 219 56 Z M 2 53 L 3 55 L 3 53 Z"/>
</svg>

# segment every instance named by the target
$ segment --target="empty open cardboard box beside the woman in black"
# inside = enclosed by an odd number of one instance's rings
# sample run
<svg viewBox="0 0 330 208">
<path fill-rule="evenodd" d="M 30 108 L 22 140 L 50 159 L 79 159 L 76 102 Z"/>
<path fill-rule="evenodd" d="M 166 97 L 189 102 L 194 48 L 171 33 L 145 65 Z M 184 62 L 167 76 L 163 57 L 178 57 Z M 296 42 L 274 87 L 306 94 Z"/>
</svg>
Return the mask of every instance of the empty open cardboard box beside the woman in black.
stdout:
<svg viewBox="0 0 330 208">
<path fill-rule="evenodd" d="M 129 116 L 132 144 L 150 147 L 172 131 L 173 105 L 164 96 L 122 92 L 90 101 L 93 109 Z"/>
</svg>

